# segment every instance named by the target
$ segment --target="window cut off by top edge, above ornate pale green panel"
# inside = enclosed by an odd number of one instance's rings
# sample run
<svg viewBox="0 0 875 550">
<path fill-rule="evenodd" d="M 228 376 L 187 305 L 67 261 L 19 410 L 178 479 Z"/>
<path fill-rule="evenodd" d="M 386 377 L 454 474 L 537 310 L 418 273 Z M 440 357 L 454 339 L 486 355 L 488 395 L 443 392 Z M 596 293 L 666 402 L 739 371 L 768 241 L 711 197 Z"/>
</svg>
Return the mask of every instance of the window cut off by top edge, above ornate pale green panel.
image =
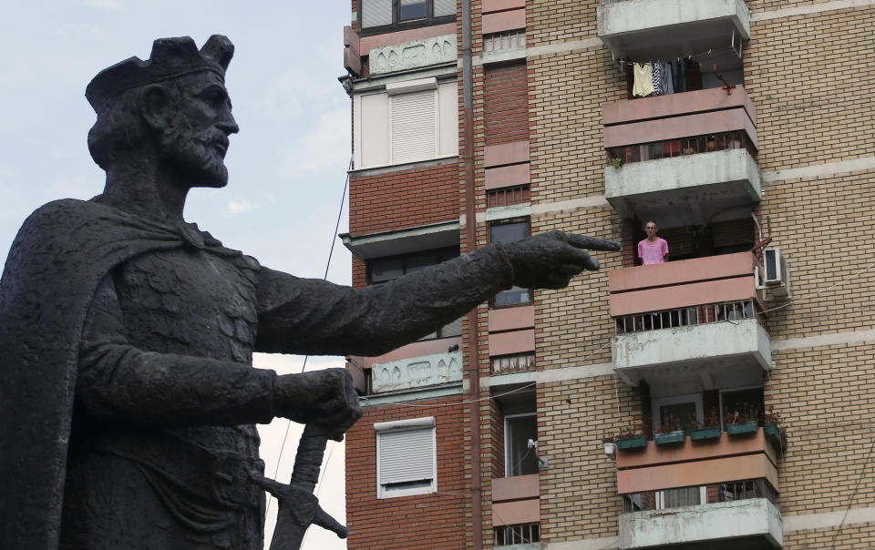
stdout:
<svg viewBox="0 0 875 550">
<path fill-rule="evenodd" d="M 359 5 L 358 25 L 365 34 L 456 20 L 454 0 L 359 0 Z"/>
</svg>

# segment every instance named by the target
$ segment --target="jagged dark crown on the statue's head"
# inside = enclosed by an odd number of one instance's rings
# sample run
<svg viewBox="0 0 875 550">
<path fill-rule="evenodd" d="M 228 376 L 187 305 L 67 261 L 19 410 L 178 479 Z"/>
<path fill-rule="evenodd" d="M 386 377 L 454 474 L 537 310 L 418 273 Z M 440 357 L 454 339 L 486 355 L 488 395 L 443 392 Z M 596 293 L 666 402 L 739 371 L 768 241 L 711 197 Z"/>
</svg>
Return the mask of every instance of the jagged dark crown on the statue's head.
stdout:
<svg viewBox="0 0 875 550">
<path fill-rule="evenodd" d="M 107 99 L 133 87 L 201 71 L 211 71 L 224 80 L 233 55 L 234 45 L 227 36 L 210 36 L 200 50 L 190 36 L 159 38 L 152 43 L 148 60 L 129 57 L 100 71 L 85 88 L 85 97 L 99 112 Z"/>
</svg>

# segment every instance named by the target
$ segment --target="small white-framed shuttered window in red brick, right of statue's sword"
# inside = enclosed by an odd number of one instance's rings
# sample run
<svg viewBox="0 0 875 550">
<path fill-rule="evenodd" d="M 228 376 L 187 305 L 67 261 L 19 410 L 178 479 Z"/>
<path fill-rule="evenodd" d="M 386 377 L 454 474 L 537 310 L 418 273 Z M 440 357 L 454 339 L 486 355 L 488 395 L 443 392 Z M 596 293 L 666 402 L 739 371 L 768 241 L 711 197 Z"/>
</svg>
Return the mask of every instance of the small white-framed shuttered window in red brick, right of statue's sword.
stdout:
<svg viewBox="0 0 875 550">
<path fill-rule="evenodd" d="M 376 423 L 376 496 L 438 490 L 435 417 Z"/>
</svg>

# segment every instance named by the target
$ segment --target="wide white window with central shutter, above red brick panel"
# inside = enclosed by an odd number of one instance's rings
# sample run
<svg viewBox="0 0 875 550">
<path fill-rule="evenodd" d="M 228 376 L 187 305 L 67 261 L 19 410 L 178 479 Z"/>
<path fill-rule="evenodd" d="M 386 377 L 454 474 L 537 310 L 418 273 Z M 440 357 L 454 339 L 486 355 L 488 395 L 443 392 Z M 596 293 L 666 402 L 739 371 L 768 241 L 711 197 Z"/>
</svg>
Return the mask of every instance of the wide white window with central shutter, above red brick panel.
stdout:
<svg viewBox="0 0 875 550">
<path fill-rule="evenodd" d="M 458 155 L 456 80 L 421 78 L 359 94 L 355 105 L 355 168 Z"/>
</svg>

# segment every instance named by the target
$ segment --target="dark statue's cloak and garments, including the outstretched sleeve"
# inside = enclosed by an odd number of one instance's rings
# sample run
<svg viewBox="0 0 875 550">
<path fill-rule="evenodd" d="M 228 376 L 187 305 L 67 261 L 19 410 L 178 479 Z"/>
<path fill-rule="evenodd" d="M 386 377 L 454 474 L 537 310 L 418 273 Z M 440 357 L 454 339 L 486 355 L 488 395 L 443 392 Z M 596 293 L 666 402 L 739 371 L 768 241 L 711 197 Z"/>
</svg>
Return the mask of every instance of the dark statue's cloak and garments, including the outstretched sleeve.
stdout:
<svg viewBox="0 0 875 550">
<path fill-rule="evenodd" d="M 0 280 L 0 547 L 261 548 L 252 351 L 376 355 L 511 277 L 489 248 L 356 292 L 99 197 L 37 209 Z"/>
</svg>

